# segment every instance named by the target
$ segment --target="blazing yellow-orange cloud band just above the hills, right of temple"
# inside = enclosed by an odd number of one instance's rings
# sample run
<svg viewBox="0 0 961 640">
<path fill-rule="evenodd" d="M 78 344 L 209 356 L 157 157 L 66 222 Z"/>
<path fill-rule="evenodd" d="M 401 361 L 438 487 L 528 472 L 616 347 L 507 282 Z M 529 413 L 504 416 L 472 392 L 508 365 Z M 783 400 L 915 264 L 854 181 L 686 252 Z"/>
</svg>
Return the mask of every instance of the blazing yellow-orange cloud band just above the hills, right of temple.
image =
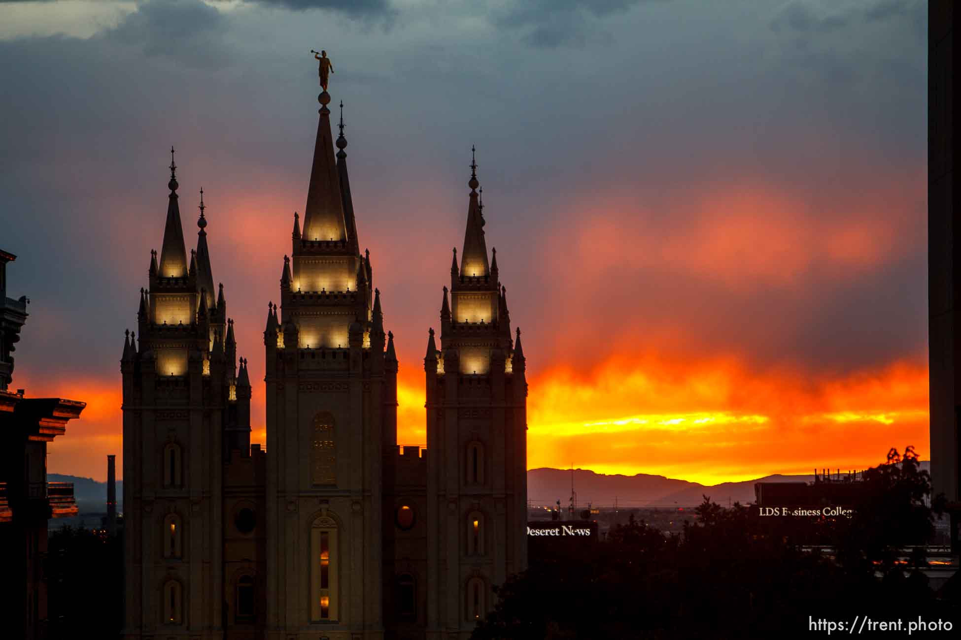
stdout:
<svg viewBox="0 0 961 640">
<path fill-rule="evenodd" d="M 732 358 L 612 358 L 530 381 L 528 466 L 714 484 L 814 466 L 863 468 L 927 449 L 927 372 L 898 363 L 819 378 Z"/>
</svg>

